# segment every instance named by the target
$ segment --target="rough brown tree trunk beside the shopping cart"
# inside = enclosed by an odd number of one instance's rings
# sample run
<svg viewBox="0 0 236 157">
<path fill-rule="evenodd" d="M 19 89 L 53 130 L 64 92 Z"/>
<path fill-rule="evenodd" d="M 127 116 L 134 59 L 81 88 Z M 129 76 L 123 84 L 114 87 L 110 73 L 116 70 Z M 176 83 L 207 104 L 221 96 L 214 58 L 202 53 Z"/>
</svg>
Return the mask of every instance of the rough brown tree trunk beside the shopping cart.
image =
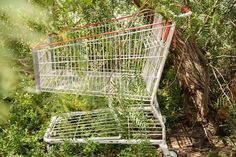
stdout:
<svg viewBox="0 0 236 157">
<path fill-rule="evenodd" d="M 188 123 L 191 126 L 200 124 L 211 142 L 211 136 L 217 131 L 217 112 L 209 98 L 208 61 L 195 41 L 185 42 L 178 30 L 175 37 L 176 47 L 172 44 L 170 51 L 175 55 L 174 67 L 183 91 L 183 107 Z"/>
</svg>

